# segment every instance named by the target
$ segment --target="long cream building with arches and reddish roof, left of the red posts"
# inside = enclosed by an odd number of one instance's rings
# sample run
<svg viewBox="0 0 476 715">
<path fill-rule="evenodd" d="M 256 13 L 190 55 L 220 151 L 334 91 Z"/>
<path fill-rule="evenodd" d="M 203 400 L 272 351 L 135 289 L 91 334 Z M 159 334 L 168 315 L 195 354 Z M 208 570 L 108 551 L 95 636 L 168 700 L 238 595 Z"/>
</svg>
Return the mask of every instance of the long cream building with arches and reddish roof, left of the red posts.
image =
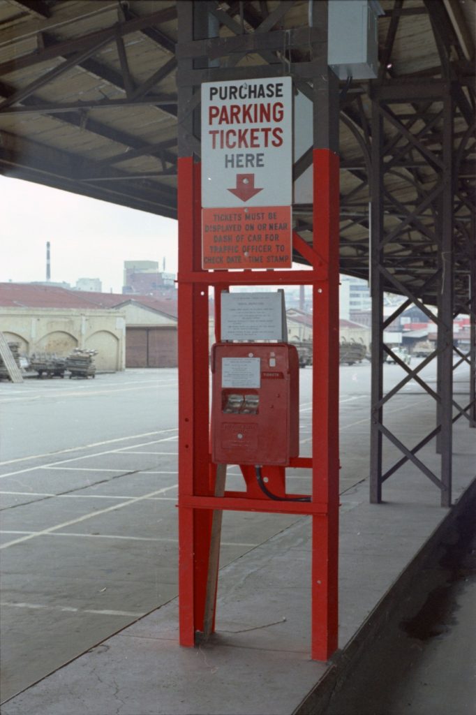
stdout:
<svg viewBox="0 0 476 715">
<path fill-rule="evenodd" d="M 0 330 L 23 355 L 98 351 L 99 370 L 177 367 L 177 292 L 171 297 L 0 283 Z"/>
</svg>

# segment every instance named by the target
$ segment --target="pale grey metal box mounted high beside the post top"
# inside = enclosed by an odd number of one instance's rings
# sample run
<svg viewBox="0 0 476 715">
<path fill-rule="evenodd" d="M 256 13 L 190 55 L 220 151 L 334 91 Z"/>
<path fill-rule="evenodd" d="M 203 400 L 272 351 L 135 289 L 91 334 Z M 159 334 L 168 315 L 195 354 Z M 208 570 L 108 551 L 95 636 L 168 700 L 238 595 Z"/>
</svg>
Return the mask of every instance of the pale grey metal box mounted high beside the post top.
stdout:
<svg viewBox="0 0 476 715">
<path fill-rule="evenodd" d="M 375 79 L 378 73 L 376 0 L 329 0 L 327 62 L 339 79 Z"/>
</svg>

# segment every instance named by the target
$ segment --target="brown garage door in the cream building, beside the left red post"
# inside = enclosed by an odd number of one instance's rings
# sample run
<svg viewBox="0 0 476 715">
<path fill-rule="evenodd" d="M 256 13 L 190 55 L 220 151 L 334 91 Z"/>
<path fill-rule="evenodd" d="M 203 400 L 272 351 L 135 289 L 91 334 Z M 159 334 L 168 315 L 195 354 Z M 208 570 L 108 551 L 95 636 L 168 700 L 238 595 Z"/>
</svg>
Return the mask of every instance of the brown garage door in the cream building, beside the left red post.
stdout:
<svg viewBox="0 0 476 715">
<path fill-rule="evenodd" d="M 177 328 L 128 327 L 127 368 L 176 368 Z"/>
</svg>

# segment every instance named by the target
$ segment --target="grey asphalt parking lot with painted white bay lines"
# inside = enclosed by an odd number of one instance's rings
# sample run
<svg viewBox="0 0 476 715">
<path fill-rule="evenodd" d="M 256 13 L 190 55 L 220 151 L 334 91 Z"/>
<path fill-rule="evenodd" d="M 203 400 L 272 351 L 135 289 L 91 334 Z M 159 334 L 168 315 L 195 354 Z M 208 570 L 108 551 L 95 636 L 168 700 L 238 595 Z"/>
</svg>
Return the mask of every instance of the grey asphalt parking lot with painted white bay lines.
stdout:
<svg viewBox="0 0 476 715">
<path fill-rule="evenodd" d="M 397 365 L 385 370 L 388 385 L 402 376 Z M 312 370 L 300 374 L 305 455 Z M 347 492 L 368 473 L 370 365 L 340 375 Z M 392 400 L 389 422 L 409 408 L 417 441 L 419 415 L 435 408 L 412 383 Z M 0 434 L 4 701 L 177 595 L 177 370 L 0 383 Z M 295 492 L 309 488 L 304 470 L 289 480 Z M 231 468 L 227 485 L 241 483 Z M 221 565 L 297 519 L 226 513 Z"/>
</svg>

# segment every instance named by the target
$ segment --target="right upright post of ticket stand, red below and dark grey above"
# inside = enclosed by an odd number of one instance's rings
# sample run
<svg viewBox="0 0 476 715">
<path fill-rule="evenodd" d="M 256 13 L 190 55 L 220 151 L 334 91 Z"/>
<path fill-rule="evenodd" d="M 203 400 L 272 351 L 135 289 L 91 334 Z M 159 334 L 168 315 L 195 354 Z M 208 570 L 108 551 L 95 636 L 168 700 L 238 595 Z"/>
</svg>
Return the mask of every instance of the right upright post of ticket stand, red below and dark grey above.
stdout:
<svg viewBox="0 0 476 715">
<path fill-rule="evenodd" d="M 311 23 L 327 28 L 327 3 L 314 3 Z M 339 543 L 339 94 L 327 66 L 327 42 L 314 48 L 313 248 L 327 265 L 314 282 L 312 383 L 312 497 L 328 504 L 312 517 L 312 658 L 337 649 Z M 315 56 L 315 55 L 314 55 Z"/>
</svg>

